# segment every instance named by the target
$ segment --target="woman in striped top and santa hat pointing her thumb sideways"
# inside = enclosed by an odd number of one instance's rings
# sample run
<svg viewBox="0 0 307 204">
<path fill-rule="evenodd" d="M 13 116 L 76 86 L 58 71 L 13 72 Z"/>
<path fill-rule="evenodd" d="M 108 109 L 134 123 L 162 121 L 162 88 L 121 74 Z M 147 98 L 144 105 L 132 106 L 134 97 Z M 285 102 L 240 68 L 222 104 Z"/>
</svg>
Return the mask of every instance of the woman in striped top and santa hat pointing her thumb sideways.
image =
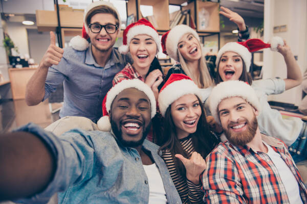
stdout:
<svg viewBox="0 0 307 204">
<path fill-rule="evenodd" d="M 159 152 L 183 203 L 203 202 L 204 158 L 219 142 L 209 131 L 201 97 L 200 88 L 189 77 L 171 74 L 158 98 L 164 116 Z"/>
</svg>

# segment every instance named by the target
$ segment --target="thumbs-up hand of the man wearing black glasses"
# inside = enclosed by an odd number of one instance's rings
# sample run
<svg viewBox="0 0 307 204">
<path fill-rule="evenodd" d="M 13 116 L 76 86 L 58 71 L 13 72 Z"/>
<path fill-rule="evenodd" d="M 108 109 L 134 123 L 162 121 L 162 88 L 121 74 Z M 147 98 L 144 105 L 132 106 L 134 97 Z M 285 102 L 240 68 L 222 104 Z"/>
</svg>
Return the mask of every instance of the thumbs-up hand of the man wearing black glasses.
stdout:
<svg viewBox="0 0 307 204">
<path fill-rule="evenodd" d="M 40 61 L 40 66 L 49 68 L 52 65 L 57 65 L 63 57 L 64 50 L 55 45 L 55 35 L 50 32 L 50 45 Z"/>
</svg>

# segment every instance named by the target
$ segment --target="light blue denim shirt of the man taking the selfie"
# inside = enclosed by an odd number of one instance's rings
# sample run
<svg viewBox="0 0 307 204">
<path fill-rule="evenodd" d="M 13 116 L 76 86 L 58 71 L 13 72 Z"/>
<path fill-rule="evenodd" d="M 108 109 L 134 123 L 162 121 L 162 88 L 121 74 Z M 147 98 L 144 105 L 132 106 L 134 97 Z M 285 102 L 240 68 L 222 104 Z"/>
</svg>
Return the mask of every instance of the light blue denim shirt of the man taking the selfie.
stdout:
<svg viewBox="0 0 307 204">
<path fill-rule="evenodd" d="M 41 193 L 18 200 L 46 203 L 58 191 L 59 203 L 148 203 L 148 178 L 135 148 L 123 147 L 109 132 L 73 129 L 56 137 L 33 123 L 20 127 L 40 137 L 56 158 L 52 182 Z M 182 203 L 159 146 L 147 140 L 143 148 L 159 168 L 168 203 Z"/>
</svg>

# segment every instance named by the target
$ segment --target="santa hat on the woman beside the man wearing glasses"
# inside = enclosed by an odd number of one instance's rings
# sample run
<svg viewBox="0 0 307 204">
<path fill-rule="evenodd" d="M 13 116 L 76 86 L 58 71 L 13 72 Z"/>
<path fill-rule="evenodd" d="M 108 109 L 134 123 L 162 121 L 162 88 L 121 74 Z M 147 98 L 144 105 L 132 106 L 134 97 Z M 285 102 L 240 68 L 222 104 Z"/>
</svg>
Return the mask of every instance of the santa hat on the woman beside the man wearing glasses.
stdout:
<svg viewBox="0 0 307 204">
<path fill-rule="evenodd" d="M 142 18 L 137 22 L 131 23 L 127 26 L 127 28 L 123 32 L 123 45 L 118 48 L 118 51 L 121 54 L 127 54 L 129 52 L 129 44 L 132 38 L 137 35 L 145 34 L 152 37 L 157 44 L 157 53 L 159 52 L 160 47 L 160 37 L 157 30 L 153 27 L 153 25 Z"/>
</svg>

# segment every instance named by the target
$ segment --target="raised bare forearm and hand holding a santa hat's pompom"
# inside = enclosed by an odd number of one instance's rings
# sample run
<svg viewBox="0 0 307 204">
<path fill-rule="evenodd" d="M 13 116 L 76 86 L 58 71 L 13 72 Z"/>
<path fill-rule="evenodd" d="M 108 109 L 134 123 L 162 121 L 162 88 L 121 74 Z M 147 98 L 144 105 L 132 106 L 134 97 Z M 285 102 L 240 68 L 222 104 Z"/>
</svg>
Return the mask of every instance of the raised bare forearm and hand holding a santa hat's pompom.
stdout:
<svg viewBox="0 0 307 204">
<path fill-rule="evenodd" d="M 286 40 L 283 40 L 284 45 L 278 45 L 278 52 L 283 56 L 284 62 L 287 65 L 287 79 L 284 79 L 286 83 L 286 90 L 296 87 L 302 82 L 301 70 L 294 58 L 290 46 L 287 44 Z"/>
</svg>

